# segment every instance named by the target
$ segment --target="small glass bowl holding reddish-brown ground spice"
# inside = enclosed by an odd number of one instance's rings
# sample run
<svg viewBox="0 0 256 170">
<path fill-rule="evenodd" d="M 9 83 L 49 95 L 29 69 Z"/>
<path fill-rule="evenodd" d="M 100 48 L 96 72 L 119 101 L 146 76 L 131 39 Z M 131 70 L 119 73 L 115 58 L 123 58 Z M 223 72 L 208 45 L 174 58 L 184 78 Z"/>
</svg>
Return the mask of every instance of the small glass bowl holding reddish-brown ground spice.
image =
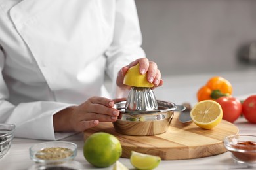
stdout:
<svg viewBox="0 0 256 170">
<path fill-rule="evenodd" d="M 230 135 L 224 139 L 225 148 L 238 163 L 256 163 L 256 136 Z"/>
</svg>

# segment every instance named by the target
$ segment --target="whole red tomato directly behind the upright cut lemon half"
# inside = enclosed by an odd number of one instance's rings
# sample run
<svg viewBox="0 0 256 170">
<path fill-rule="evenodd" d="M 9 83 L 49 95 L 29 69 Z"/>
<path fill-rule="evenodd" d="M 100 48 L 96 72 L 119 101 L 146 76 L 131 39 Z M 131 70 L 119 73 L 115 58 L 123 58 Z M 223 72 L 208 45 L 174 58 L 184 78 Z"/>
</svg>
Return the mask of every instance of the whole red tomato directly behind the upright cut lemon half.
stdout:
<svg viewBox="0 0 256 170">
<path fill-rule="evenodd" d="M 234 122 L 242 113 L 241 102 L 234 97 L 219 97 L 216 100 L 223 109 L 223 119 L 228 122 Z"/>
</svg>

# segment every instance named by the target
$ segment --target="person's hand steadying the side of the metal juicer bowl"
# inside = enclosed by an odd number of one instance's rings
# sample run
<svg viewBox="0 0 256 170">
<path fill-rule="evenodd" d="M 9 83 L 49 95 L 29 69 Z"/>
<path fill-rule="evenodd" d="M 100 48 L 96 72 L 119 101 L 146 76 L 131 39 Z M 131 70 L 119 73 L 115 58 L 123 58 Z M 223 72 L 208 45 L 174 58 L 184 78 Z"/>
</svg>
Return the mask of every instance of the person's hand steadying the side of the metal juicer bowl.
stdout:
<svg viewBox="0 0 256 170">
<path fill-rule="evenodd" d="M 85 131 L 99 122 L 114 122 L 119 110 L 114 109 L 114 102 L 104 97 L 91 97 L 84 103 L 68 107 L 54 114 L 54 131 Z"/>
</svg>

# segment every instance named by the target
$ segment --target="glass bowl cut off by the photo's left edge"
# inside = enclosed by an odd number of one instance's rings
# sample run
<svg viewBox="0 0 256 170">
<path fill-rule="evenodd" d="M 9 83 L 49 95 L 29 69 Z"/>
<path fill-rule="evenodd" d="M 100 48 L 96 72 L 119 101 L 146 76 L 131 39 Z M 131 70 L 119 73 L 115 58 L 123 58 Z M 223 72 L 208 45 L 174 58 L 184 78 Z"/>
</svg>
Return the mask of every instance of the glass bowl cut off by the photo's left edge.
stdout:
<svg viewBox="0 0 256 170">
<path fill-rule="evenodd" d="M 0 124 L 0 158 L 5 156 L 11 148 L 14 131 L 14 124 Z"/>
</svg>

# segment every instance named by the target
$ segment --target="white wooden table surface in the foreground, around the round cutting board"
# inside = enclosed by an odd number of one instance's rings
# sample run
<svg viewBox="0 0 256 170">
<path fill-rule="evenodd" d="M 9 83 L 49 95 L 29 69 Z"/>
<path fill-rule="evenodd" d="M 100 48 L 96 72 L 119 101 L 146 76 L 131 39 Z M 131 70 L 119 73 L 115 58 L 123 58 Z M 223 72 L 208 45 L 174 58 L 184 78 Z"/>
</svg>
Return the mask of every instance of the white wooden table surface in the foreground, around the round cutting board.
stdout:
<svg viewBox="0 0 256 170">
<path fill-rule="evenodd" d="M 248 124 L 244 118 L 236 120 L 235 125 L 240 129 L 240 134 L 256 135 L 256 125 Z M 91 166 L 83 157 L 83 133 L 79 133 L 64 139 L 63 141 L 74 142 L 78 146 L 77 156 L 74 161 L 78 161 L 84 169 L 96 169 Z M 33 144 L 42 143 L 45 141 L 32 139 L 14 138 L 12 146 L 3 158 L 0 160 L 0 169 L 29 169 L 35 163 L 30 160 L 28 149 Z M 127 166 L 129 169 L 134 169 L 129 159 L 119 158 L 119 161 Z M 230 152 L 225 152 L 216 156 L 209 156 L 205 158 L 196 158 L 190 160 L 163 160 L 157 169 L 246 169 L 245 165 L 236 164 L 230 155 Z M 104 169 L 112 169 L 101 168 Z M 255 167 L 256 169 L 256 167 Z"/>
</svg>

